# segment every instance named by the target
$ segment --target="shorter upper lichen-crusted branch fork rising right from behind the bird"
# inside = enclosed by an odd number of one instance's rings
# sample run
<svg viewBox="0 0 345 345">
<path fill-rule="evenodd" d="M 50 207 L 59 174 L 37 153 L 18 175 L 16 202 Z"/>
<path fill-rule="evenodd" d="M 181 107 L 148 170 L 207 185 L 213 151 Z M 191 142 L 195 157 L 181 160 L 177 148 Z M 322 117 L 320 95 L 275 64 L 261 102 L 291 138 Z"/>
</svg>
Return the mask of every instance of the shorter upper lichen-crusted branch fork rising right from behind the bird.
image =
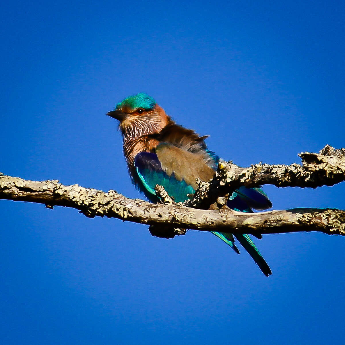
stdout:
<svg viewBox="0 0 345 345">
<path fill-rule="evenodd" d="M 240 186 L 248 188 L 262 185 L 276 187 L 321 187 L 333 186 L 345 180 L 345 149 L 326 145 L 318 154 L 302 152 L 302 166 L 255 164 L 240 168 L 232 162 L 219 162 L 214 178 L 210 182 L 199 181 L 194 197 L 184 205 L 208 209 L 218 197 L 233 193 Z"/>
</svg>

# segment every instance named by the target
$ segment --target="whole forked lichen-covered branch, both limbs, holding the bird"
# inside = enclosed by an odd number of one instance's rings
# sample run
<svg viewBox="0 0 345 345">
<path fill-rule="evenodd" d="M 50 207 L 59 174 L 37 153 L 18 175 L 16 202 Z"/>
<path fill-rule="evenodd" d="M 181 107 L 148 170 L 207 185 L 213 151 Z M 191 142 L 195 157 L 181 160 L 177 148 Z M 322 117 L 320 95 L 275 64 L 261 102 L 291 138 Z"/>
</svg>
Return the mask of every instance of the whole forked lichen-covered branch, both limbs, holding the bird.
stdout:
<svg viewBox="0 0 345 345">
<path fill-rule="evenodd" d="M 107 193 L 78 185 L 64 186 L 58 180 L 30 181 L 0 174 L 0 199 L 30 201 L 80 210 L 87 217 L 106 216 L 150 225 L 159 237 L 185 234 L 185 229 L 259 234 L 295 231 L 321 231 L 345 235 L 345 211 L 298 208 L 292 210 L 241 213 L 225 206 L 226 195 L 239 186 L 277 187 L 331 186 L 345 180 L 345 149 L 326 146 L 319 154 L 302 153 L 302 166 L 257 164 L 239 168 L 221 162 L 210 182 L 199 181 L 199 188 L 186 207 L 175 204 L 164 188 L 156 188 L 162 204 L 128 199 L 114 190 Z M 204 208 L 204 209 L 202 209 Z M 212 208 L 205 210 L 205 208 Z"/>
</svg>

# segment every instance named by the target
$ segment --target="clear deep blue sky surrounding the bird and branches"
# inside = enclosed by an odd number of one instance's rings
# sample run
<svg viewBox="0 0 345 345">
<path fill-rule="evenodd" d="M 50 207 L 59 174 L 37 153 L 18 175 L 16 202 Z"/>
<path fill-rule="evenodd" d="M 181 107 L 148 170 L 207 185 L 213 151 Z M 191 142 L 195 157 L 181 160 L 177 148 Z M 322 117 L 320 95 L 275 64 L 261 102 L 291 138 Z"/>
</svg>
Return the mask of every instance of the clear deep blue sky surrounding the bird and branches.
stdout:
<svg viewBox="0 0 345 345">
<path fill-rule="evenodd" d="M 105 116 L 147 92 L 236 164 L 344 147 L 344 2 L 11 1 L 1 13 L 0 171 L 141 197 Z M 345 208 L 345 184 L 265 187 Z M 345 238 L 189 231 L 0 201 L 2 344 L 344 344 Z"/>
</svg>

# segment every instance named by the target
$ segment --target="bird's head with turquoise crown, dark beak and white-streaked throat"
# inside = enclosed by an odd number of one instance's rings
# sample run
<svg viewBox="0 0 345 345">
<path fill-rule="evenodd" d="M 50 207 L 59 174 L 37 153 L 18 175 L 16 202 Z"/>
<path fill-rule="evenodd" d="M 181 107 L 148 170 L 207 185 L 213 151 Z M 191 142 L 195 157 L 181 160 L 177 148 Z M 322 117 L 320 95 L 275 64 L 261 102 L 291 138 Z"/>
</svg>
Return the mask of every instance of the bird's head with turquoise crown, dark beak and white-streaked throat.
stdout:
<svg viewBox="0 0 345 345">
<path fill-rule="evenodd" d="M 168 121 L 165 111 L 143 92 L 125 98 L 107 115 L 119 120 L 122 134 L 131 137 L 159 133 Z"/>
</svg>

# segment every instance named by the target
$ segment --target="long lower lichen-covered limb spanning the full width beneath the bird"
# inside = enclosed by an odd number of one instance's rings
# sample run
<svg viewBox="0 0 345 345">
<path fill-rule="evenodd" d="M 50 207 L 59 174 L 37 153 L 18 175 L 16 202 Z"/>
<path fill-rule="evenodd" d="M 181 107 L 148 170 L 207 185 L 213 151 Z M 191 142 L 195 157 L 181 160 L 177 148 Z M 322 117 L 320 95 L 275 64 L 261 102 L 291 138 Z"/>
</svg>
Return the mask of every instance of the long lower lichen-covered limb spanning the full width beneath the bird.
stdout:
<svg viewBox="0 0 345 345">
<path fill-rule="evenodd" d="M 0 199 L 30 201 L 47 207 L 67 206 L 87 217 L 106 216 L 155 226 L 203 231 L 274 234 L 321 231 L 345 235 L 345 211 L 336 209 L 293 209 L 253 214 L 229 209 L 201 210 L 177 204 L 151 204 L 128 199 L 114 190 L 107 193 L 78 185 L 63 186 L 58 180 L 30 181 L 0 176 Z"/>
</svg>

